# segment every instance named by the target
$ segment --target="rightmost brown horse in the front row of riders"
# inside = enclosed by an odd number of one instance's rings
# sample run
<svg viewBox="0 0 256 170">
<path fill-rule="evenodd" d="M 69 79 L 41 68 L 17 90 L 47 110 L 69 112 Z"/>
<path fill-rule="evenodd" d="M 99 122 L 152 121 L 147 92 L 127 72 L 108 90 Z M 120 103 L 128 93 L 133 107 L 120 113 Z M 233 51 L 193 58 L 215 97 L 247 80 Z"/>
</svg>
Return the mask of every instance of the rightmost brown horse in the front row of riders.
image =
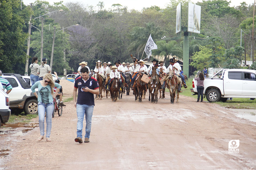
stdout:
<svg viewBox="0 0 256 170">
<path fill-rule="evenodd" d="M 181 79 L 174 74 L 173 70 L 170 69 L 169 75 L 166 75 L 166 86 L 170 91 L 171 103 L 174 104 L 175 93 L 177 91 L 177 103 L 179 102 L 179 91 L 178 84 L 181 83 Z"/>
</svg>

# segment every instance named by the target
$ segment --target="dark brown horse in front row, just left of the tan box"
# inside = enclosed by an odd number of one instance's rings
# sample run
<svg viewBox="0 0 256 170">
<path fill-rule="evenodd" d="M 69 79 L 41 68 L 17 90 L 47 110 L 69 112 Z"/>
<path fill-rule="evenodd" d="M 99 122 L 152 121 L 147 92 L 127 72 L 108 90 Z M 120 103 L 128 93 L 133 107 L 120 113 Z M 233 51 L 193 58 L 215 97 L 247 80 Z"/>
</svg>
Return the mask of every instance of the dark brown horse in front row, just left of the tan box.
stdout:
<svg viewBox="0 0 256 170">
<path fill-rule="evenodd" d="M 135 80 L 135 87 L 134 87 L 134 95 L 135 95 L 135 101 L 139 101 L 142 102 L 142 95 L 143 95 L 143 90 L 147 90 L 146 89 L 146 83 L 141 81 L 143 73 L 139 73 L 138 74 L 138 78 L 136 78 Z"/>
</svg>

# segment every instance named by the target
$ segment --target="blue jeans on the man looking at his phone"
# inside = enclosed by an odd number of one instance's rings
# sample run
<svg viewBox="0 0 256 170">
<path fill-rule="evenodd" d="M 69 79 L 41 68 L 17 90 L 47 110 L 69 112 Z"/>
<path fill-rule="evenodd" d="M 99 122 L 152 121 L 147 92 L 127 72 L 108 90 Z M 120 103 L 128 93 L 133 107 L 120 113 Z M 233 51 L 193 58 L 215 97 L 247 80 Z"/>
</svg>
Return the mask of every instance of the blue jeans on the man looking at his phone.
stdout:
<svg viewBox="0 0 256 170">
<path fill-rule="evenodd" d="M 86 126 L 84 137 L 90 138 L 93 107 L 94 105 L 77 104 L 77 137 L 83 137 L 83 120 L 85 115 Z"/>
</svg>

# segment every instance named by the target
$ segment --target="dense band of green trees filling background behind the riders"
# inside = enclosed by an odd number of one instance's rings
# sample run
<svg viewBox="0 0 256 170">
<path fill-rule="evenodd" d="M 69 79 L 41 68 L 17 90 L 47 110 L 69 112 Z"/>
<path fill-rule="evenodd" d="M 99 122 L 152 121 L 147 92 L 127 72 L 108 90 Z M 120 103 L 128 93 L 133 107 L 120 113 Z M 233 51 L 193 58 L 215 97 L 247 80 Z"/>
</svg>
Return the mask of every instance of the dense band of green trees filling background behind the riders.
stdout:
<svg viewBox="0 0 256 170">
<path fill-rule="evenodd" d="M 150 8 L 141 7 L 141 11 L 128 9 L 122 4 L 113 4 L 110 9 L 105 9 L 104 1 L 98 2 L 95 7 L 79 2 L 63 4 L 60 1 L 50 5 L 46 1 L 35 1 L 32 8 L 22 4 L 20 9 L 20 1 L 0 0 L 0 70 L 24 74 L 30 15 L 32 25 L 41 30 L 41 19 L 39 21 L 36 17 L 59 9 L 63 11 L 43 16 L 43 57 L 48 59 L 47 64 L 50 64 L 54 26 L 56 31 L 75 24 L 79 26 L 56 34 L 53 71 L 58 74 L 63 74 L 63 68 L 68 73 L 76 72 L 82 61 L 88 62 L 93 69 L 97 60 L 132 62 L 130 54 L 140 59 L 150 34 L 158 46 L 152 51 L 152 57 L 168 61 L 175 56 L 182 60 L 183 32 L 175 34 L 176 6 L 179 2 L 182 4 L 182 26 L 186 27 L 189 0 L 170 0 L 163 9 L 156 4 Z M 196 4 L 201 6 L 201 31 L 197 35 L 190 34 L 190 66 L 200 70 L 204 66 L 240 68 L 245 57 L 244 50 L 246 60 L 250 59 L 253 5 L 241 2 L 237 7 L 230 7 L 230 2 L 226 0 Z M 33 56 L 40 57 L 41 34 L 34 27 L 31 29 L 29 61 Z M 243 47 L 239 47 L 240 29 L 245 36 Z M 165 40 L 161 40 L 163 36 L 166 36 Z M 192 39 L 194 36 L 201 39 Z M 66 62 L 63 59 L 64 50 Z"/>
</svg>

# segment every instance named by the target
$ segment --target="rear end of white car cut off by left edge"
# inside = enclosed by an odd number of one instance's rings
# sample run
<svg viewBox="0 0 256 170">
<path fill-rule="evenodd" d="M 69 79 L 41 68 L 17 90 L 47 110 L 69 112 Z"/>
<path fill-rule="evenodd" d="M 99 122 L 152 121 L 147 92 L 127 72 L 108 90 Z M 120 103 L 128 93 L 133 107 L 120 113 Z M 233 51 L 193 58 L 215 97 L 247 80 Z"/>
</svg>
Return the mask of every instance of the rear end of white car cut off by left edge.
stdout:
<svg viewBox="0 0 256 170">
<path fill-rule="evenodd" d="M 7 123 L 11 115 L 9 109 L 9 96 L 2 90 L 0 90 L 0 127 L 2 123 Z"/>
</svg>

